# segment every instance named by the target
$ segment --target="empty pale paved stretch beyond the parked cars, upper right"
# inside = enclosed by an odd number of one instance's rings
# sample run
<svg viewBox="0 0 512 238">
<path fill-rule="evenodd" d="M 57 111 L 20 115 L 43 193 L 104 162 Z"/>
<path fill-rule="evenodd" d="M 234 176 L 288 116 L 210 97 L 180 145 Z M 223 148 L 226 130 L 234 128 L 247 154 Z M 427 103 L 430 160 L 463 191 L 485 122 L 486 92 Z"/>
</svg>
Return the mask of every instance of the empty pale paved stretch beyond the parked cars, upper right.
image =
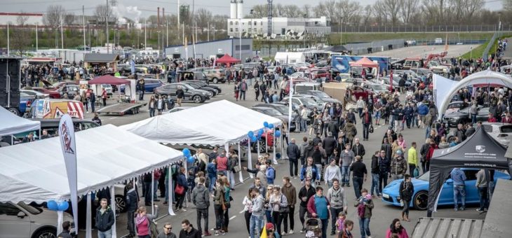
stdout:
<svg viewBox="0 0 512 238">
<path fill-rule="evenodd" d="M 448 53 L 446 57 L 459 57 L 464 55 L 469 50 L 476 48 L 478 45 L 449 45 Z M 403 57 L 420 57 L 426 58 L 430 54 L 438 54 L 440 52 L 445 51 L 445 45 L 418 45 L 418 46 L 410 46 L 399 48 L 396 50 L 386 50 L 382 52 L 375 52 L 373 56 L 386 56 L 391 58 L 403 59 Z"/>
</svg>

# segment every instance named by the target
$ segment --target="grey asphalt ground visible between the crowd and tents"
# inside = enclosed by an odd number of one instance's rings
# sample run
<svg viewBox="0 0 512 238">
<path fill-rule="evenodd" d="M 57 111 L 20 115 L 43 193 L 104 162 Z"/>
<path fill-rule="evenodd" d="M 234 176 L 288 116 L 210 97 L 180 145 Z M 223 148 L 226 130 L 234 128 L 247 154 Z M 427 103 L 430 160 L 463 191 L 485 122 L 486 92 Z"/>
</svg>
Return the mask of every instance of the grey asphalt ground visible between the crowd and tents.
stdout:
<svg viewBox="0 0 512 238">
<path fill-rule="evenodd" d="M 234 94 L 232 93 L 232 87 L 233 85 L 227 85 L 223 84 L 220 85 L 222 87 L 222 94 L 218 95 L 217 97 L 213 98 L 211 101 L 217 101 L 221 99 L 227 99 L 229 101 L 235 101 L 234 100 Z M 146 95 L 146 98 L 149 98 L 149 95 Z M 238 102 L 238 104 L 241 104 L 243 106 L 251 106 L 255 104 L 254 101 L 254 92 L 248 93 L 248 100 Z M 185 104 L 184 106 L 197 106 L 198 104 Z M 89 113 L 90 115 L 90 113 Z M 90 116 L 92 117 L 92 116 Z M 123 117 L 115 117 L 115 116 L 106 116 L 102 117 L 103 123 L 111 123 L 114 125 L 124 125 L 127 123 L 133 123 L 138 120 L 142 120 L 149 117 L 149 113 L 147 109 L 143 109 L 140 114 L 137 114 L 135 116 L 123 116 Z M 358 123 L 357 125 L 358 132 L 363 132 L 361 123 Z M 381 144 L 380 139 L 382 139 L 382 136 L 384 135 L 384 132 L 387 127 L 380 126 L 375 127 L 375 132 L 373 134 L 370 134 L 370 140 L 369 141 L 363 141 L 363 145 L 365 146 L 365 149 L 367 151 L 367 155 L 365 155 L 365 158 L 363 158 L 363 162 L 365 162 L 366 166 L 370 168 L 370 158 L 372 153 L 375 153 L 375 151 L 379 150 Z M 406 129 L 403 132 L 404 138 L 407 141 L 407 145 L 410 145 L 412 141 L 416 141 L 418 144 L 418 148 L 424 143 L 424 130 L 422 129 Z M 292 138 L 297 139 L 297 141 L 301 141 L 302 137 L 304 137 L 304 134 L 299 133 L 291 133 L 290 136 Z M 256 155 L 253 154 L 252 158 L 256 158 Z M 254 165 L 255 161 L 253 161 Z M 242 162 L 242 165 L 247 165 L 246 162 Z M 277 170 L 277 176 L 276 178 L 281 178 L 282 176 L 288 176 L 288 161 L 281 160 L 279 161 L 279 165 L 276 165 Z M 363 188 L 370 189 L 371 186 L 371 176 L 368 176 L 368 181 L 365 181 L 363 183 Z M 247 230 L 245 228 L 245 220 L 243 218 L 243 214 L 240 212 L 243 209 L 243 205 L 241 204 L 243 197 L 247 194 L 248 188 L 250 186 L 251 181 L 245 181 L 243 184 L 239 184 L 236 186 L 236 191 L 232 193 L 232 197 L 234 197 L 234 202 L 231 204 L 231 209 L 229 210 L 229 233 L 227 233 L 226 237 L 248 237 Z M 276 184 L 281 185 L 281 179 L 276 180 Z M 300 187 L 300 181 L 292 180 L 292 184 L 297 188 L 297 191 Z M 325 188 L 326 186 L 324 186 Z M 353 191 L 353 187 L 346 189 L 346 195 L 349 198 L 349 204 L 353 202 L 353 198 L 355 198 L 355 193 Z M 370 222 L 370 230 L 372 231 L 372 237 L 379 238 L 379 237 L 385 237 L 385 231 L 387 228 L 389 228 L 389 225 L 393 218 L 400 217 L 400 208 L 398 207 L 392 207 L 389 205 L 383 204 L 380 200 L 375 200 L 375 209 L 373 209 L 373 217 Z M 163 226 L 163 223 L 171 223 L 173 225 L 173 232 L 175 234 L 179 234 L 180 230 L 180 223 L 183 219 L 187 218 L 191 223 L 196 226 L 196 210 L 194 209 L 194 205 L 189 204 L 189 207 L 187 208 L 186 212 L 177 211 L 177 216 L 168 216 L 167 209 L 168 207 L 163 205 L 162 202 L 156 202 L 156 204 L 159 205 L 159 214 L 161 218 L 159 218 L 159 228 L 161 229 Z M 297 205 L 298 206 L 298 205 Z M 149 208 L 149 207 L 148 207 Z M 438 217 L 453 217 L 453 218 L 477 218 L 477 219 L 484 219 L 485 214 L 479 215 L 475 211 L 476 207 L 469 207 L 469 209 L 466 209 L 466 211 L 457 211 L 454 212 L 452 207 L 440 207 L 438 209 L 438 213 L 435 214 L 435 216 Z M 298 231 L 301 228 L 301 225 L 299 224 L 299 215 L 298 211 L 299 209 L 296 209 L 295 211 L 295 234 L 294 235 L 288 235 L 286 237 L 304 237 L 303 234 L 300 234 Z M 150 211 L 150 210 L 149 210 Z M 213 207 L 210 207 L 209 210 L 209 228 L 212 228 L 213 225 L 215 225 L 215 214 L 213 212 Z M 403 222 L 403 226 L 406 228 L 407 232 L 409 234 L 412 233 L 412 229 L 415 226 L 415 223 L 417 221 L 417 218 L 426 216 L 425 211 L 410 211 L 410 219 L 411 222 Z M 361 237 L 358 232 L 358 221 L 357 221 L 357 214 L 355 207 L 349 207 L 349 213 L 347 216 L 348 219 L 351 219 L 353 221 L 356 221 L 356 228 L 354 229 L 354 237 Z M 95 232 L 93 232 L 93 237 L 96 237 Z M 117 234 L 118 237 L 121 237 L 121 235 L 126 235 L 126 214 L 121 214 L 121 217 L 117 221 Z M 85 232 L 81 232 L 80 237 L 85 237 Z"/>
</svg>

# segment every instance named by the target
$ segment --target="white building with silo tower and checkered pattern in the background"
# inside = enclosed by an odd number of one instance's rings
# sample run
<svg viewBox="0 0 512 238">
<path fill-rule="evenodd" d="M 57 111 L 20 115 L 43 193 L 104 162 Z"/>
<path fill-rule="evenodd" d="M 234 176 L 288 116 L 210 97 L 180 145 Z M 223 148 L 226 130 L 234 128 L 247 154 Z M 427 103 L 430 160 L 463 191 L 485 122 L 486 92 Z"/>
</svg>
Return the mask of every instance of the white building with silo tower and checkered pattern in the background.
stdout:
<svg viewBox="0 0 512 238">
<path fill-rule="evenodd" d="M 271 4 L 271 3 L 269 3 Z M 231 0 L 230 16 L 227 20 L 228 36 L 238 37 L 242 33 L 251 36 L 267 34 L 271 36 L 285 35 L 288 31 L 297 33 L 325 35 L 330 34 L 330 19 L 321 18 L 271 18 L 271 32 L 269 32 L 269 18 L 243 18 L 243 0 Z M 248 35 L 248 34 L 243 34 Z"/>
</svg>

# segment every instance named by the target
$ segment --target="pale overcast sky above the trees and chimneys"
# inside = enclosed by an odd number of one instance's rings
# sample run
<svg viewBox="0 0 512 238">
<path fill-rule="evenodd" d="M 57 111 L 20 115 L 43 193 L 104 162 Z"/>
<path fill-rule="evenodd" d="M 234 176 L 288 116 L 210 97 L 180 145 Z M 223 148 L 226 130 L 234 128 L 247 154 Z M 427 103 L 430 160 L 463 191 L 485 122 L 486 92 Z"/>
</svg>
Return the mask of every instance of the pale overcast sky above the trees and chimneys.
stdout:
<svg viewBox="0 0 512 238">
<path fill-rule="evenodd" d="M 86 14 L 92 14 L 97 4 L 105 3 L 107 0 L 0 0 L 2 12 L 18 13 L 24 11 L 27 13 L 44 13 L 50 5 L 60 4 L 65 9 L 73 11 L 75 14 L 81 14 L 82 5 L 86 8 Z M 117 0 L 119 5 L 118 12 L 127 18 L 135 18 L 136 15 L 144 18 L 148 15 L 156 15 L 156 7 L 166 8 L 166 13 L 176 13 L 178 0 Z M 365 6 L 374 3 L 376 0 L 357 0 L 361 5 Z M 230 0 L 195 0 L 196 9 L 208 8 L 214 14 L 220 13 L 229 15 Z M 297 4 L 304 6 L 308 3 L 316 5 L 319 1 L 311 0 L 274 0 L 274 4 Z M 192 5 L 192 0 L 180 0 L 181 4 Z M 266 0 L 245 0 L 244 11 L 249 12 L 251 6 L 256 4 L 267 3 Z M 135 9 L 135 7 L 137 7 Z M 486 8 L 497 10 L 501 8 L 501 1 L 486 0 Z"/>
</svg>

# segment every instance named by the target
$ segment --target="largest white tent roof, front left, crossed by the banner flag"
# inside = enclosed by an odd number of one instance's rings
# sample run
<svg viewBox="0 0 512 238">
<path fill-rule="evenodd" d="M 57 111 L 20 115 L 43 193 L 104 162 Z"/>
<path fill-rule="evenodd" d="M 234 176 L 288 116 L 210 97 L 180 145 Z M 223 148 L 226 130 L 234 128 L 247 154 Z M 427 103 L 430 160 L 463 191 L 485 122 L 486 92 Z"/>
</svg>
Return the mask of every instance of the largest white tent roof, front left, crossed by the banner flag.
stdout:
<svg viewBox="0 0 512 238">
<path fill-rule="evenodd" d="M 68 200 L 59 137 L 0 148 L 0 202 Z M 151 172 L 182 153 L 114 125 L 76 132 L 78 195 Z"/>
</svg>

